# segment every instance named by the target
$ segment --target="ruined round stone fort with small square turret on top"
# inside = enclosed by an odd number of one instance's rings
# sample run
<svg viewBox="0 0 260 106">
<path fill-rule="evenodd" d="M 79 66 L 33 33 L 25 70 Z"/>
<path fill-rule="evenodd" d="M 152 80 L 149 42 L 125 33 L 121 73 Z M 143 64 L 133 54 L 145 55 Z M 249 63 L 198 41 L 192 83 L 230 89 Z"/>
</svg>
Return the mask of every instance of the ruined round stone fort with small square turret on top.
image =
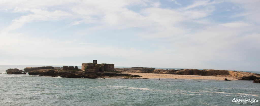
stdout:
<svg viewBox="0 0 260 106">
<path fill-rule="evenodd" d="M 97 60 L 93 60 L 93 63 L 82 63 L 81 70 L 104 72 L 104 71 L 114 71 L 114 64 L 97 64 Z"/>
</svg>

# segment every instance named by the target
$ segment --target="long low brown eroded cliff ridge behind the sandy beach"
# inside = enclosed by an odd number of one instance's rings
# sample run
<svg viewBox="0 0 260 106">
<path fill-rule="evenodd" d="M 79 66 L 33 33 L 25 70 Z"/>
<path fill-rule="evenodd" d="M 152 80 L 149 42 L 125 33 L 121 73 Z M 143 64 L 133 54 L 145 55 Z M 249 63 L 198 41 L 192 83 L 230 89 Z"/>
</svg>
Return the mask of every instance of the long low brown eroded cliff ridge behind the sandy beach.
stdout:
<svg viewBox="0 0 260 106">
<path fill-rule="evenodd" d="M 241 72 L 241 71 L 230 71 L 230 70 L 198 70 L 198 69 L 179 69 L 179 70 L 164 70 L 164 69 L 155 69 L 150 70 L 148 68 L 142 67 L 133 67 L 133 68 L 115 68 L 116 71 L 119 72 L 136 72 L 136 73 L 156 73 L 156 74 L 177 74 L 177 75 L 202 75 L 202 76 L 225 76 L 225 77 L 233 77 L 237 79 L 243 80 L 254 80 L 254 78 L 260 77 L 255 73 L 250 72 Z M 250 76 L 255 76 L 254 78 L 249 78 Z"/>
</svg>

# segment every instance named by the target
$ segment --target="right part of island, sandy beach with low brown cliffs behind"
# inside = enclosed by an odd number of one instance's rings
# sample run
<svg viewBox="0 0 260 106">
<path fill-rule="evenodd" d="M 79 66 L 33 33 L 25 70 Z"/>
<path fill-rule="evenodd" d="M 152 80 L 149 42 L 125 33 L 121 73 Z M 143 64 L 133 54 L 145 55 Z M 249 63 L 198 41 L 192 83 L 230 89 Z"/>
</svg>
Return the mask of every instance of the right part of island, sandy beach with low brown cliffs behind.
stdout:
<svg viewBox="0 0 260 106">
<path fill-rule="evenodd" d="M 226 78 L 233 80 L 254 80 L 254 82 L 260 82 L 260 74 L 250 73 L 250 72 L 242 72 L 242 71 L 230 71 L 230 70 L 213 70 L 213 69 L 155 69 L 155 68 L 142 68 L 142 67 L 132 67 L 132 68 L 115 68 L 115 71 L 125 72 L 128 74 L 139 73 L 135 75 L 141 76 L 155 76 L 153 78 L 189 78 L 189 79 L 218 79 Z M 141 74 L 142 73 L 142 74 Z M 158 76 L 158 77 L 157 77 Z M 166 77 L 165 77 L 166 76 Z M 168 76 L 168 77 L 167 77 Z M 226 79 L 225 81 L 229 81 Z"/>
</svg>

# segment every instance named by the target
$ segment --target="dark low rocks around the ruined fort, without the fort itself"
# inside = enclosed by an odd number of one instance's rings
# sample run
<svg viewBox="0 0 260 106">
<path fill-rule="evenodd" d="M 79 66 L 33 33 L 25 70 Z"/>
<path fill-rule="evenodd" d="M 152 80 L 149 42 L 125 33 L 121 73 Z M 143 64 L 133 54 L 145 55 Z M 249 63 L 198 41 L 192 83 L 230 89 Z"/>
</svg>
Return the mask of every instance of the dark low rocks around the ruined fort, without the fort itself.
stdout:
<svg viewBox="0 0 260 106">
<path fill-rule="evenodd" d="M 75 67 L 77 68 L 77 67 Z M 121 76 L 126 78 L 138 78 L 141 76 L 131 75 L 131 74 L 122 74 L 115 72 L 95 72 L 95 71 L 84 71 L 81 69 L 73 69 L 73 70 L 62 70 L 55 69 L 51 66 L 46 67 L 27 67 L 22 70 L 18 69 L 8 69 L 6 70 L 6 74 L 26 74 L 28 72 L 29 75 L 35 76 L 52 76 L 52 77 L 63 77 L 63 78 L 105 78 L 104 76 Z"/>
</svg>

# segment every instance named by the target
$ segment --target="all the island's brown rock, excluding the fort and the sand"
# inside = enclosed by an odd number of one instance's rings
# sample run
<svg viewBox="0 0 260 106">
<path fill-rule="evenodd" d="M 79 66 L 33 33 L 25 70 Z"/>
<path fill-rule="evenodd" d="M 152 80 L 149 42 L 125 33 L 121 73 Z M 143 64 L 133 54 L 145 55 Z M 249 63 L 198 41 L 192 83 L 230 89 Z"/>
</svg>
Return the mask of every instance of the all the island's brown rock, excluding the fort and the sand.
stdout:
<svg viewBox="0 0 260 106">
<path fill-rule="evenodd" d="M 240 80 L 253 80 L 255 83 L 260 83 L 260 74 L 241 72 L 241 71 L 230 71 L 230 70 L 198 70 L 198 69 L 155 69 L 155 68 L 143 68 L 143 67 L 132 67 L 132 68 L 114 68 L 113 71 L 109 72 L 95 72 L 85 71 L 72 68 L 73 70 L 64 70 L 58 67 L 27 67 L 23 70 L 8 69 L 7 74 L 26 74 L 39 75 L 39 76 L 52 76 L 52 77 L 64 77 L 64 78 L 105 78 L 105 76 L 114 77 L 121 76 L 124 79 L 139 78 L 141 76 L 135 76 L 131 74 L 122 74 L 123 72 L 128 73 L 153 73 L 153 74 L 173 74 L 173 75 L 199 75 L 199 76 L 216 76 L 216 77 L 232 77 Z M 226 80 L 228 81 L 228 80 Z"/>
</svg>

